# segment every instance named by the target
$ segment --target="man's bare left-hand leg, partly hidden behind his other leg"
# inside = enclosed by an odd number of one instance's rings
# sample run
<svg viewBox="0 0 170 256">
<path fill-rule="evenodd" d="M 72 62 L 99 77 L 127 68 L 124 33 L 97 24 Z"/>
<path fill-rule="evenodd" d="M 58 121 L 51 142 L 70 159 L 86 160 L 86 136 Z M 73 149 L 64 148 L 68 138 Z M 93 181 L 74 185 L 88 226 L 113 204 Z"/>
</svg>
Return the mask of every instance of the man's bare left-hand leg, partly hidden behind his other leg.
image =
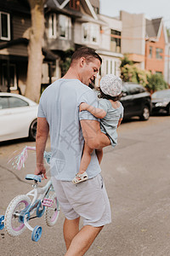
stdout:
<svg viewBox="0 0 170 256">
<path fill-rule="evenodd" d="M 79 222 L 80 222 L 80 218 L 75 218 L 75 219 L 65 218 L 63 233 L 65 238 L 65 246 L 67 250 L 71 245 L 71 241 L 79 232 Z"/>
</svg>

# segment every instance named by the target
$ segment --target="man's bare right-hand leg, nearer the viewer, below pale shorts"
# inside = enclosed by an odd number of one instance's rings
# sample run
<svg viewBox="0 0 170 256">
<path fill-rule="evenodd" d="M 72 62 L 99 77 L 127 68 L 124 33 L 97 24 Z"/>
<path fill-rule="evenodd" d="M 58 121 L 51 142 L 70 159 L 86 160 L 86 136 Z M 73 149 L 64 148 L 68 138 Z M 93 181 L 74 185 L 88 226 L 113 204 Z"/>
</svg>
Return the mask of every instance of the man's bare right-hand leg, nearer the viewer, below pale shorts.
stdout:
<svg viewBox="0 0 170 256">
<path fill-rule="evenodd" d="M 102 230 L 102 227 L 93 227 L 90 225 L 83 226 L 77 235 L 71 241 L 71 245 L 65 256 L 82 256 L 88 251 L 96 236 Z"/>
</svg>

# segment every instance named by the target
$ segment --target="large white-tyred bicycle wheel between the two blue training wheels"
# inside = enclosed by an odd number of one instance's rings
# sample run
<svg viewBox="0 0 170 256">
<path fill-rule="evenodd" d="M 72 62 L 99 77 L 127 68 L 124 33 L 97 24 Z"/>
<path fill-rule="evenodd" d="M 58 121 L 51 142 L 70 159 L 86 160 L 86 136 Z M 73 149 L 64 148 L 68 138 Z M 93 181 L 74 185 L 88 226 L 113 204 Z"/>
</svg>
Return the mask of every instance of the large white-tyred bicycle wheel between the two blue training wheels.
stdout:
<svg viewBox="0 0 170 256">
<path fill-rule="evenodd" d="M 30 204 L 31 199 L 27 195 L 17 195 L 9 203 L 4 219 L 5 230 L 9 236 L 20 236 L 26 229 L 24 215 Z"/>
</svg>

